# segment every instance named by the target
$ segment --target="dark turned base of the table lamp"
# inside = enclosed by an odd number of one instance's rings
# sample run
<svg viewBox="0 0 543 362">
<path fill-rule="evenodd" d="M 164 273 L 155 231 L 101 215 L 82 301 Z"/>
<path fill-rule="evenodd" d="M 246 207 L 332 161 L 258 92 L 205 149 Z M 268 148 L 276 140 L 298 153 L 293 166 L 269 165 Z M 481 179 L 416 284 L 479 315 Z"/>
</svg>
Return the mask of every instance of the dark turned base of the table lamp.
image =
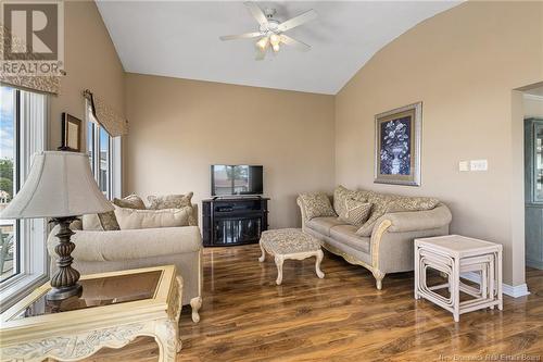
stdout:
<svg viewBox="0 0 543 362">
<path fill-rule="evenodd" d="M 59 270 L 51 276 L 52 289 L 47 294 L 48 300 L 62 300 L 73 296 L 81 295 L 83 287 L 77 284 L 79 280 L 79 272 L 72 267 L 72 251 L 74 251 L 75 244 L 70 238 L 74 234 L 70 228 L 70 224 L 76 220 L 75 216 L 55 217 L 53 223 L 59 224 L 60 229 L 56 234 L 60 242 L 54 247 L 54 251 L 59 255 L 56 265 Z"/>
</svg>

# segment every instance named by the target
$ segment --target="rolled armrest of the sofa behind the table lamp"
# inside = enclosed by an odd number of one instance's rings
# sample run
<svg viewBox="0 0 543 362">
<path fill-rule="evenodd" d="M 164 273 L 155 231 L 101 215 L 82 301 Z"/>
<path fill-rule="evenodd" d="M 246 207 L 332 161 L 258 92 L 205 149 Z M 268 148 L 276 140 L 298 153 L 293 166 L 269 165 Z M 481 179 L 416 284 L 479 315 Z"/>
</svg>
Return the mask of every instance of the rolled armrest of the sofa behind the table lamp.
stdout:
<svg viewBox="0 0 543 362">
<path fill-rule="evenodd" d="M 59 244 L 55 226 L 49 234 L 49 254 L 56 259 Z M 114 232 L 76 230 L 72 257 L 78 261 L 122 261 L 200 252 L 202 238 L 198 226 L 160 227 Z"/>
</svg>

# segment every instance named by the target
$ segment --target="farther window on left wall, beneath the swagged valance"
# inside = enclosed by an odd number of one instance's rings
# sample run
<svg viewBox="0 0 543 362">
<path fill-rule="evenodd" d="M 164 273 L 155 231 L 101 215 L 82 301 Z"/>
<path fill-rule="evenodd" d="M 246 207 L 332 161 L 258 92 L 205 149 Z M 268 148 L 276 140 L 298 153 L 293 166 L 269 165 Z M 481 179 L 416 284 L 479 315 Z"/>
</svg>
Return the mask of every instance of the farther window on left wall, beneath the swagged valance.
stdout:
<svg viewBox="0 0 543 362">
<path fill-rule="evenodd" d="M 121 137 L 110 134 L 96 122 L 88 108 L 87 153 L 94 179 L 108 199 L 121 196 Z"/>
</svg>

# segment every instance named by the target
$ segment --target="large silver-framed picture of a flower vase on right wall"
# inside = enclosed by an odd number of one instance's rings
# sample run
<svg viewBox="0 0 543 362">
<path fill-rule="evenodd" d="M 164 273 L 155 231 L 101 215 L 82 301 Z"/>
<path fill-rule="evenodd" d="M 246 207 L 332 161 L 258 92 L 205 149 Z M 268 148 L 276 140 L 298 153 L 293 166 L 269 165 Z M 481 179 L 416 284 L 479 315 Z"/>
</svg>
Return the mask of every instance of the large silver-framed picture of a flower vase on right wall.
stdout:
<svg viewBox="0 0 543 362">
<path fill-rule="evenodd" d="M 422 102 L 375 116 L 375 183 L 420 186 Z"/>
</svg>

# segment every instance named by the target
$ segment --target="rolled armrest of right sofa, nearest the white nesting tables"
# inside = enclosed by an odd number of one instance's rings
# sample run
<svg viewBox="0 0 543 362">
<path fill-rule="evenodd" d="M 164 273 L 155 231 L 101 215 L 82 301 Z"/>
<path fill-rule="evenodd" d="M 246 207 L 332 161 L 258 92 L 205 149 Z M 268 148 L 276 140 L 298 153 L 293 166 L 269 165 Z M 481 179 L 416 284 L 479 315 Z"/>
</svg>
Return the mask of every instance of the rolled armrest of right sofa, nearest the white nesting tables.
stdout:
<svg viewBox="0 0 543 362">
<path fill-rule="evenodd" d="M 406 211 L 388 213 L 381 216 L 374 227 L 374 233 L 383 220 L 391 222 L 388 233 L 409 233 L 441 228 L 451 224 L 453 216 L 449 208 L 439 204 L 427 211 Z"/>
</svg>

